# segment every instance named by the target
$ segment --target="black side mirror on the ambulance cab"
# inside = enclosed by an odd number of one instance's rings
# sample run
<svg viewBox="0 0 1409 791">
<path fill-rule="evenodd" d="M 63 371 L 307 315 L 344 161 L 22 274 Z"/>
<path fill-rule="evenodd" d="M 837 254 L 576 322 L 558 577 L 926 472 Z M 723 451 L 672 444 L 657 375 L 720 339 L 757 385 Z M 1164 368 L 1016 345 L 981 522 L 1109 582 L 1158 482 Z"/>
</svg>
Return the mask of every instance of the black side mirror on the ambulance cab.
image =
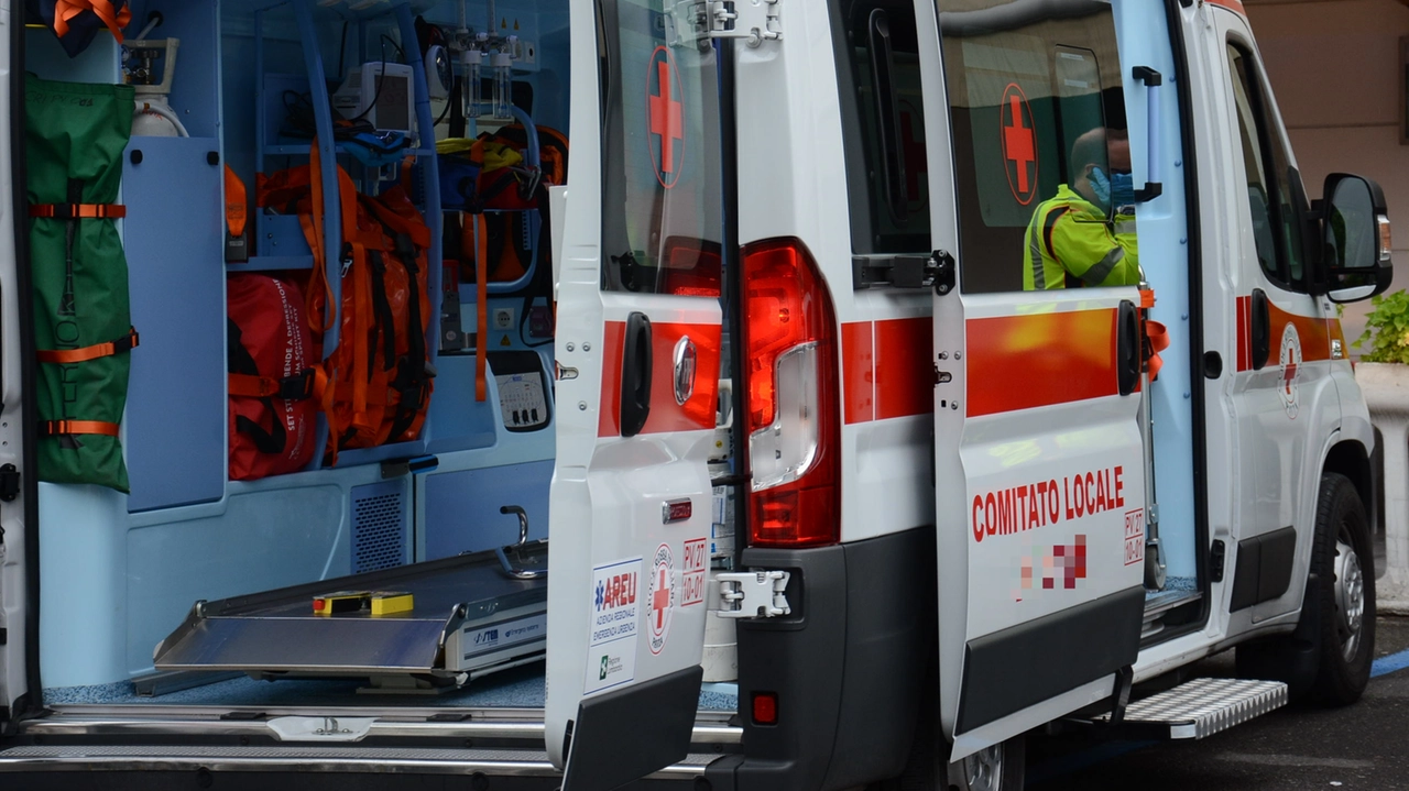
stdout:
<svg viewBox="0 0 1409 791">
<path fill-rule="evenodd" d="M 1379 184 L 1347 173 L 1326 177 L 1322 273 L 1333 303 L 1368 300 L 1389 289 L 1389 215 Z"/>
</svg>

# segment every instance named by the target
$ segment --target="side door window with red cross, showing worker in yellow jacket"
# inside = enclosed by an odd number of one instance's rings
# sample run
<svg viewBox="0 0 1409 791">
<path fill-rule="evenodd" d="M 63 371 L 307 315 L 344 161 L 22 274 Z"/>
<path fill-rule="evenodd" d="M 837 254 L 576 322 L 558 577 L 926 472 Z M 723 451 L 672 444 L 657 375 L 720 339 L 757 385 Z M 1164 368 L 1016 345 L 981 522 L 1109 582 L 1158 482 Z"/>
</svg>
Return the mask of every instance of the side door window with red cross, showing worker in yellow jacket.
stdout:
<svg viewBox="0 0 1409 791">
<path fill-rule="evenodd" d="M 1115 18 L 1076 8 L 941 4 L 967 293 L 1138 281 Z"/>
</svg>

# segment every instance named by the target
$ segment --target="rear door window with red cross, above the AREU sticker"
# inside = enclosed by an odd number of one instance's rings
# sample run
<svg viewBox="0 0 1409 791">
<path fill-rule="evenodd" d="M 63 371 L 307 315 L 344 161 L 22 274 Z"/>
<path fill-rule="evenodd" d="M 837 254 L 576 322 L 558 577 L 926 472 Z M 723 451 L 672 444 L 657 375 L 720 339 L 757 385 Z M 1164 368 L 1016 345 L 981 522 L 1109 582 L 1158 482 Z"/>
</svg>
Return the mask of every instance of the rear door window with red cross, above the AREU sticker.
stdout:
<svg viewBox="0 0 1409 791">
<path fill-rule="evenodd" d="M 603 0 L 602 287 L 717 297 L 719 83 L 662 0 Z"/>
</svg>

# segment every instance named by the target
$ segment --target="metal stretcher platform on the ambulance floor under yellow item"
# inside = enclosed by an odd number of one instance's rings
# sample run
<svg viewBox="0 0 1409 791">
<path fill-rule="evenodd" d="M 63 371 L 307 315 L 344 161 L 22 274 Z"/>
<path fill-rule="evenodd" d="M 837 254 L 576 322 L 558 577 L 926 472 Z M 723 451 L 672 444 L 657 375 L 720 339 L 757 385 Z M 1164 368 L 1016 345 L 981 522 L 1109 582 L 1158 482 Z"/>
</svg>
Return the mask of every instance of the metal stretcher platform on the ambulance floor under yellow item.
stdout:
<svg viewBox="0 0 1409 791">
<path fill-rule="evenodd" d="M 364 677 L 410 687 L 464 684 L 530 662 L 547 646 L 547 542 L 199 601 L 155 650 L 159 671 L 255 678 Z M 411 595 L 403 612 L 318 615 L 340 591 Z"/>
</svg>

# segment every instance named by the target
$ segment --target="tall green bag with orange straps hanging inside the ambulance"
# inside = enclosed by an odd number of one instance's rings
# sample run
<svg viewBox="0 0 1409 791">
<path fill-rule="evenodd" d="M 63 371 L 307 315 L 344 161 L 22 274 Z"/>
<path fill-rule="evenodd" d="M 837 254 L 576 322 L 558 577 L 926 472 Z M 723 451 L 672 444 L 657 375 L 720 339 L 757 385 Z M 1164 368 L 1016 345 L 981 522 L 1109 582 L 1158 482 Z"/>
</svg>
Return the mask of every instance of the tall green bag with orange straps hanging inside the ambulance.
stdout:
<svg viewBox="0 0 1409 791">
<path fill-rule="evenodd" d="M 137 346 L 116 220 L 131 86 L 25 79 L 39 480 L 128 491 L 118 443 Z"/>
</svg>

